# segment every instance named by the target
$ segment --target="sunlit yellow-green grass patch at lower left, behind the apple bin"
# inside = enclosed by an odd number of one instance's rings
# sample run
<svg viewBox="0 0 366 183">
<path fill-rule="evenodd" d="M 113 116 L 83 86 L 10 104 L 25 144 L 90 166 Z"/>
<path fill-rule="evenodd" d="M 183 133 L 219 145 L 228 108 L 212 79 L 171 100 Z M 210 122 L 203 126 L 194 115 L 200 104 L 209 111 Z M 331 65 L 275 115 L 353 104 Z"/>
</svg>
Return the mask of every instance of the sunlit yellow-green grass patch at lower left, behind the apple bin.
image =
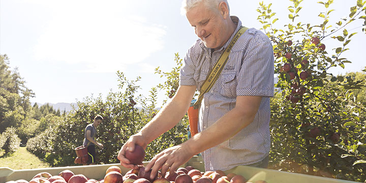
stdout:
<svg viewBox="0 0 366 183">
<path fill-rule="evenodd" d="M 51 167 L 35 155 L 29 153 L 25 147 L 19 147 L 11 156 L 3 156 L 3 154 L 4 152 L 0 152 L 1 167 L 9 167 L 13 170 Z"/>
</svg>

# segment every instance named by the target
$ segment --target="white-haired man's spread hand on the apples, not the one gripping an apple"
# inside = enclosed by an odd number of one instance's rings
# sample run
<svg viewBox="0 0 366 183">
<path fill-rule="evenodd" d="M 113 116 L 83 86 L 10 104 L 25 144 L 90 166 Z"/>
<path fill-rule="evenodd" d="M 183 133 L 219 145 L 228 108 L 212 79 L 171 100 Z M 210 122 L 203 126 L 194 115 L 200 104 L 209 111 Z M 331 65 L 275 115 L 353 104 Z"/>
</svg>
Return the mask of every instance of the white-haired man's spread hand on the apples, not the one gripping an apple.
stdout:
<svg viewBox="0 0 366 183">
<path fill-rule="evenodd" d="M 152 168 L 153 170 L 151 170 L 150 178 L 153 179 L 153 176 L 156 175 L 161 168 L 161 173 L 164 177 L 169 168 L 170 172 L 174 172 L 180 165 L 188 162 L 194 155 L 191 148 L 185 143 L 182 143 L 161 151 L 161 153 L 156 155 L 151 159 L 150 163 L 146 165 L 145 171 Z"/>
</svg>

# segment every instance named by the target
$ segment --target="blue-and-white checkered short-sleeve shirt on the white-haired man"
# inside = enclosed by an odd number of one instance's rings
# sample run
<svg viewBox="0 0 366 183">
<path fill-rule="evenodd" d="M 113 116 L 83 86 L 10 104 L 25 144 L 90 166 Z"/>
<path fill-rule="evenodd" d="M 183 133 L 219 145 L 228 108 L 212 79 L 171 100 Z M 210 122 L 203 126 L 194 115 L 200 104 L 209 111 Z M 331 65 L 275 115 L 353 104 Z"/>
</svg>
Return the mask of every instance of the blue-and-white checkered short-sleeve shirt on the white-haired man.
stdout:
<svg viewBox="0 0 366 183">
<path fill-rule="evenodd" d="M 198 39 L 188 50 L 180 70 L 179 85 L 195 85 L 200 90 L 207 75 L 241 26 L 231 16 L 237 28 L 228 42 L 212 51 Z M 198 131 L 213 125 L 235 107 L 237 96 L 261 96 L 253 122 L 229 140 L 202 153 L 205 170 L 228 170 L 239 165 L 257 163 L 270 150 L 270 100 L 273 97 L 274 58 L 269 38 L 255 28 L 249 28 L 233 46 L 219 78 L 203 96 L 199 111 Z"/>
</svg>

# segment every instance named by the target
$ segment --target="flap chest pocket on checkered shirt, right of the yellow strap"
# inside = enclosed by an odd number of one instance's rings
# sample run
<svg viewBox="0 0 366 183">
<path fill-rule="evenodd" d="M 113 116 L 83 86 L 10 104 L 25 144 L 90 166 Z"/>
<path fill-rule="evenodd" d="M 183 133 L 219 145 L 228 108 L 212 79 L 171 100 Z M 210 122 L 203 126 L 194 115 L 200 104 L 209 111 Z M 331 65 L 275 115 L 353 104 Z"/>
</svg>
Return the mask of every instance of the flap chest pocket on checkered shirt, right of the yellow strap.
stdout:
<svg viewBox="0 0 366 183">
<path fill-rule="evenodd" d="M 220 94 L 224 97 L 236 97 L 236 73 L 223 73 L 221 80 Z"/>
</svg>

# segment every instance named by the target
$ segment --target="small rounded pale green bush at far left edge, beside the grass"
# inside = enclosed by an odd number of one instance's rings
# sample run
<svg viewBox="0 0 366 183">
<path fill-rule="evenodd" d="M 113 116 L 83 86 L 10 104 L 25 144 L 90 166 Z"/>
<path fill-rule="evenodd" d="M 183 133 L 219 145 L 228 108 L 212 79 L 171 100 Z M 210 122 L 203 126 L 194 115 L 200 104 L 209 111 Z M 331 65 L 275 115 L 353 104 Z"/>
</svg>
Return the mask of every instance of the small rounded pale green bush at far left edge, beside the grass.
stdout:
<svg viewBox="0 0 366 183">
<path fill-rule="evenodd" d="M 0 147 L 5 150 L 5 155 L 15 153 L 20 146 L 20 138 L 16 134 L 16 129 L 9 127 L 0 137 Z"/>
</svg>

